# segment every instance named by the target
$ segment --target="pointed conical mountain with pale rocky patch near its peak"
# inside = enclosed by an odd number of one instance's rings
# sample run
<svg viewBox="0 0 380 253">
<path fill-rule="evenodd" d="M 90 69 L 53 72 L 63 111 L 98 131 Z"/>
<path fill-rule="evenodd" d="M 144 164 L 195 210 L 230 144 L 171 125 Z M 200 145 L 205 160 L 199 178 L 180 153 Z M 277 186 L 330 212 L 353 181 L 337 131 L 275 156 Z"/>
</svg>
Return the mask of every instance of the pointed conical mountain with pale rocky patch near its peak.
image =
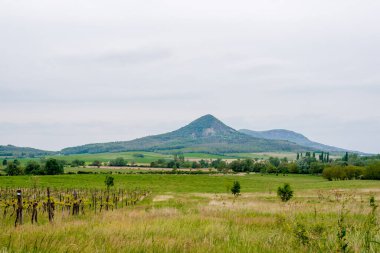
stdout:
<svg viewBox="0 0 380 253">
<path fill-rule="evenodd" d="M 309 150 L 309 148 L 286 140 L 270 140 L 249 136 L 226 126 L 212 115 L 205 115 L 173 132 L 131 141 L 70 147 L 63 149 L 61 153 L 79 154 L 121 151 L 238 153 L 305 150 Z"/>
</svg>

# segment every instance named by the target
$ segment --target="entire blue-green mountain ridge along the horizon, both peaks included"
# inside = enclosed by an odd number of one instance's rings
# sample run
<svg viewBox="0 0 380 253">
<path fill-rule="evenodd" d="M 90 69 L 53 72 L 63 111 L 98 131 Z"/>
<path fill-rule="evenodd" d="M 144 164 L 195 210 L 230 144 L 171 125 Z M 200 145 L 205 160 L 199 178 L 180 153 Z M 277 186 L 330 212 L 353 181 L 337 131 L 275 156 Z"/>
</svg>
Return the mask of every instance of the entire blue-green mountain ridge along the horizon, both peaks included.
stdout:
<svg viewBox="0 0 380 253">
<path fill-rule="evenodd" d="M 269 131 L 235 130 L 214 116 L 207 114 L 178 130 L 138 138 L 130 141 L 93 143 L 51 152 L 33 148 L 0 146 L 0 156 L 34 157 L 51 154 L 107 153 L 123 151 L 151 151 L 160 153 L 253 153 L 347 150 L 313 142 L 302 134 L 275 129 Z"/>
</svg>

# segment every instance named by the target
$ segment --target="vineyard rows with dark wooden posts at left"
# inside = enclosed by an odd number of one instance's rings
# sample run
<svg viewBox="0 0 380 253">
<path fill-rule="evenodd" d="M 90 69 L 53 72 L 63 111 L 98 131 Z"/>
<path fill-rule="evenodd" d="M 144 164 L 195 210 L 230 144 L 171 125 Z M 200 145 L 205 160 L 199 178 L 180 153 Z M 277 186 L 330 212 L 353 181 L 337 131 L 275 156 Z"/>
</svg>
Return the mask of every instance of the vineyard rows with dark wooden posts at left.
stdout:
<svg viewBox="0 0 380 253">
<path fill-rule="evenodd" d="M 58 216 L 96 214 L 134 206 L 150 194 L 144 189 L 0 188 L 4 224 L 54 222 Z"/>
</svg>

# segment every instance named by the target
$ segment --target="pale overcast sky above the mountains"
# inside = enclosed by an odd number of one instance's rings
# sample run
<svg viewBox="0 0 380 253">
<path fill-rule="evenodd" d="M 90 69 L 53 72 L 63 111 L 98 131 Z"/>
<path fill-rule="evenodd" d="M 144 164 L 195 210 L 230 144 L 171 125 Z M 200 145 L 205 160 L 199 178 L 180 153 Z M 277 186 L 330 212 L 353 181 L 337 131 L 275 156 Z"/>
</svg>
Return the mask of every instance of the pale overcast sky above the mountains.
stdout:
<svg viewBox="0 0 380 253">
<path fill-rule="evenodd" d="M 0 0 L 0 145 L 130 140 L 213 114 L 380 153 L 380 1 Z"/>
</svg>

